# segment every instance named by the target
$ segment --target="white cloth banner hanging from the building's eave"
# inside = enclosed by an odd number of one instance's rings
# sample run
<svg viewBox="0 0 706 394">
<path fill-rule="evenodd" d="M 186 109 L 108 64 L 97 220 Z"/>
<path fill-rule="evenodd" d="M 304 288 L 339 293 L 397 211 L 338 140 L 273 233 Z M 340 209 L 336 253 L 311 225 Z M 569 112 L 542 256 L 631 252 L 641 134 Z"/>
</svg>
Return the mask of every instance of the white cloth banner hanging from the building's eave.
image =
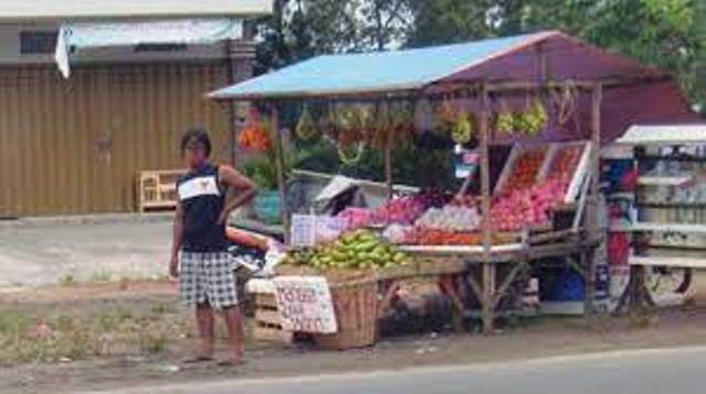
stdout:
<svg viewBox="0 0 706 394">
<path fill-rule="evenodd" d="M 142 44 L 211 44 L 243 36 L 239 19 L 76 23 L 60 29 L 55 59 L 64 77 L 71 74 L 71 54 L 88 48 Z"/>
</svg>

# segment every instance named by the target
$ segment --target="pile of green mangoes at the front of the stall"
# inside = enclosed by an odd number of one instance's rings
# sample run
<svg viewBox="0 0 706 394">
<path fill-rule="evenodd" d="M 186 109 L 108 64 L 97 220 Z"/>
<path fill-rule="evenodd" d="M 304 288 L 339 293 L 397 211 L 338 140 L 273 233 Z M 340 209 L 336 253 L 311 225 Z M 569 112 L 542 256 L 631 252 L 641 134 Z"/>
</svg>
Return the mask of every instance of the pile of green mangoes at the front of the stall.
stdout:
<svg viewBox="0 0 706 394">
<path fill-rule="evenodd" d="M 373 270 L 408 265 L 410 259 L 396 247 L 385 243 L 367 230 L 341 237 L 327 247 L 290 252 L 284 264 L 328 269 Z"/>
</svg>

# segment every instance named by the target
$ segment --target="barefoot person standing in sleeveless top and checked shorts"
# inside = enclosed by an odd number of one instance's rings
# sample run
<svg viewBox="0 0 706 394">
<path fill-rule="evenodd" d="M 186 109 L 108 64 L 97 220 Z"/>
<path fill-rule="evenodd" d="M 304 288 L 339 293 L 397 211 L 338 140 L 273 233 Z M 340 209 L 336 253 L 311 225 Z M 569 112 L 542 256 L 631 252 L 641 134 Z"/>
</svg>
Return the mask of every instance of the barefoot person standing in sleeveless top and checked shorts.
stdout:
<svg viewBox="0 0 706 394">
<path fill-rule="evenodd" d="M 189 172 L 176 184 L 179 203 L 169 273 L 180 280 L 182 299 L 196 310 L 201 344 L 186 362 L 213 360 L 214 310 L 218 310 L 229 337 L 228 359 L 220 364 L 237 365 L 243 361 L 243 321 L 225 227 L 229 214 L 249 201 L 257 189 L 233 167 L 208 162 L 211 140 L 205 129 L 188 130 L 181 152 Z M 231 187 L 237 195 L 226 204 Z"/>
</svg>

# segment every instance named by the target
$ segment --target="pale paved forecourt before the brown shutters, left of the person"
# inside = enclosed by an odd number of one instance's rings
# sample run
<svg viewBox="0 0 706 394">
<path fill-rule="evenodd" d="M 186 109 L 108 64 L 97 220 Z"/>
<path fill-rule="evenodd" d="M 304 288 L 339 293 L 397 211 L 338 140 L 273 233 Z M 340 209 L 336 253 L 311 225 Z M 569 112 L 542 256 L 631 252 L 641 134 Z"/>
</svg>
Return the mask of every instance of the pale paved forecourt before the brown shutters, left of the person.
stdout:
<svg viewBox="0 0 706 394">
<path fill-rule="evenodd" d="M 157 219 L 0 226 L 0 292 L 68 277 L 82 282 L 163 277 L 171 225 Z"/>
</svg>

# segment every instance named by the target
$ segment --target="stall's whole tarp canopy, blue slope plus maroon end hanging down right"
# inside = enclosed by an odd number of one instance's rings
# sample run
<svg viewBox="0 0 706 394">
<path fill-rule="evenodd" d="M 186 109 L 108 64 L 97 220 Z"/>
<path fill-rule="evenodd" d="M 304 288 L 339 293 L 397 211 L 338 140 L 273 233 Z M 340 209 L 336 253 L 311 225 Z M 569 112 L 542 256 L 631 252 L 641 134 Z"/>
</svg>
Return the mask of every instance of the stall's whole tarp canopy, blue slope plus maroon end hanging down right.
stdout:
<svg viewBox="0 0 706 394">
<path fill-rule="evenodd" d="M 418 50 L 323 55 L 224 87 L 207 97 L 216 100 L 377 99 L 439 94 L 445 86 L 453 84 L 531 86 L 543 80 L 605 84 L 603 142 L 613 141 L 635 123 L 696 119 L 668 74 L 559 31 Z M 547 130 L 547 140 L 556 140 L 557 133 L 567 140 L 586 138 L 591 128 L 589 96 L 586 91 L 571 96 L 576 105 L 574 120 L 564 128 Z M 503 100 L 511 107 L 526 106 L 526 95 L 507 95 Z"/>
</svg>

